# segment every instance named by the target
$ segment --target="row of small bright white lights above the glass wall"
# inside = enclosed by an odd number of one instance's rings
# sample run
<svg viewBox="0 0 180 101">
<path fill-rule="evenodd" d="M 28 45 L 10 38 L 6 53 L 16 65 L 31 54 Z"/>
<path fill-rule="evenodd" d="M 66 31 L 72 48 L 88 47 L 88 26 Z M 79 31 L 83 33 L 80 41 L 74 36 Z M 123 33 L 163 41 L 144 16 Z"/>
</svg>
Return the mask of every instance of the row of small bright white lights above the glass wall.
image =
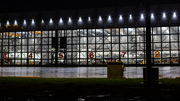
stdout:
<svg viewBox="0 0 180 101">
<path fill-rule="evenodd" d="M 177 17 L 175 12 L 173 13 L 173 17 L 174 17 L 174 18 Z M 151 18 L 152 18 L 152 19 L 154 18 L 154 14 L 151 14 Z M 166 13 L 163 13 L 163 18 L 166 18 Z M 129 15 L 129 19 L 132 19 L 132 15 L 131 15 L 131 14 Z M 141 19 L 144 19 L 144 14 L 141 14 Z M 91 20 L 91 17 L 88 17 L 88 20 L 90 21 L 90 20 Z M 108 16 L 108 20 L 111 20 L 111 16 Z M 119 20 L 123 20 L 122 15 L 119 16 Z M 68 21 L 71 22 L 71 18 L 70 18 L 70 17 L 69 17 L 69 20 L 68 20 Z M 79 17 L 79 21 L 82 22 L 81 17 Z M 99 16 L 99 21 L 102 21 L 101 16 Z M 53 22 L 53 21 L 52 21 L 52 18 L 50 19 L 49 22 L 50 22 L 50 23 Z M 60 22 L 60 23 L 63 22 L 62 18 L 60 18 L 59 22 Z M 34 24 L 34 19 L 32 19 L 32 22 L 31 22 L 31 23 Z M 44 20 L 43 20 L 43 19 L 42 19 L 42 23 L 44 23 Z M 24 20 L 24 24 L 26 24 L 26 20 Z M 9 21 L 7 21 L 7 25 L 9 25 Z M 16 20 L 14 21 L 14 25 L 17 25 L 17 21 L 16 21 Z"/>
</svg>

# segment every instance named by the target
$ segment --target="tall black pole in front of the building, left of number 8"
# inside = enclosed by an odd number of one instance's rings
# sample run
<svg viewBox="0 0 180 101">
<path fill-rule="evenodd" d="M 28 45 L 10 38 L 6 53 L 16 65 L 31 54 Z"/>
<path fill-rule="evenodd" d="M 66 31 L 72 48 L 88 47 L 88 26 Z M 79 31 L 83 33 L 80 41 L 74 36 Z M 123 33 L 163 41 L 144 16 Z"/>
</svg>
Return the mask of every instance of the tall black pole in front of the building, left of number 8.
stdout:
<svg viewBox="0 0 180 101">
<path fill-rule="evenodd" d="M 147 85 L 152 85 L 151 67 L 151 23 L 150 23 L 150 0 L 146 0 L 146 77 Z"/>
</svg>

